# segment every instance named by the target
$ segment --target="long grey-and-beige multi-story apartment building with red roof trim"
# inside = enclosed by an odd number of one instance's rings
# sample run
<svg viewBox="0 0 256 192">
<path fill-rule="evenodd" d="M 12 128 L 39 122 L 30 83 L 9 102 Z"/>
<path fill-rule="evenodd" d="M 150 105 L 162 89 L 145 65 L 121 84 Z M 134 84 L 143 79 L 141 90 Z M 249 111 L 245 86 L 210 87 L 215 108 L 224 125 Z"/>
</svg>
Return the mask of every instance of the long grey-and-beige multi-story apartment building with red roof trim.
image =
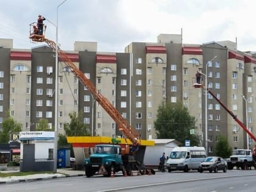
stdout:
<svg viewBox="0 0 256 192">
<path fill-rule="evenodd" d="M 69 113 L 82 112 L 91 135 L 122 136 L 115 121 L 61 59 L 55 77 L 55 55 L 46 44 L 13 49 L 12 40 L 1 39 L 0 46 L 0 127 L 9 110 L 24 130 L 35 130 L 41 118 L 48 119 L 51 128 L 57 93 L 58 132 L 63 133 L 63 124 L 70 121 Z M 203 83 L 207 79 L 207 87 L 256 135 L 252 115 L 256 58 L 251 52 L 238 51 L 236 43 L 183 44 L 181 35 L 161 34 L 157 43 L 130 43 L 123 53 L 97 52 L 96 42 L 76 42 L 67 55 L 143 139 L 157 137 L 154 121 L 162 102 L 183 102 L 195 117 L 195 132 L 209 153 L 214 152 L 219 135 L 227 137 L 232 148 L 247 148 L 246 132 L 211 94 L 193 88 L 196 71 L 204 74 Z M 253 142 L 249 138 L 249 148 Z"/>
</svg>

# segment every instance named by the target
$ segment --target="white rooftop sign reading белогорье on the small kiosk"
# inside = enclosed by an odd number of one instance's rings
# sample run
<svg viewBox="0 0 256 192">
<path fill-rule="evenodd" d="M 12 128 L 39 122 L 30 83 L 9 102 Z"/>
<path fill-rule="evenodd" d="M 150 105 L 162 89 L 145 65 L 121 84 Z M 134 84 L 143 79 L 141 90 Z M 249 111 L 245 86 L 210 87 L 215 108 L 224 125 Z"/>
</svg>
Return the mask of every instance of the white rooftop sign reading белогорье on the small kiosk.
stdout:
<svg viewBox="0 0 256 192">
<path fill-rule="evenodd" d="M 53 140 L 54 132 L 51 131 L 24 131 L 20 132 L 20 140 Z"/>
</svg>

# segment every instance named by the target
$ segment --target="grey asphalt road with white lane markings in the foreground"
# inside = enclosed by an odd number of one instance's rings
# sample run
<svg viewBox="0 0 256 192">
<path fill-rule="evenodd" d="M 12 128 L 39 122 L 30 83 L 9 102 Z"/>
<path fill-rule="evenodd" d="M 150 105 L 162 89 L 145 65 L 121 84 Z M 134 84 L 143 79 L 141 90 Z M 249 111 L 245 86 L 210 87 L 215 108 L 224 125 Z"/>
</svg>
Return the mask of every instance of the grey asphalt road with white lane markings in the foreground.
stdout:
<svg viewBox="0 0 256 192">
<path fill-rule="evenodd" d="M 67 177 L 27 183 L 0 185 L 5 192 L 107 192 L 107 191 L 256 191 L 255 170 L 228 170 L 226 173 L 197 171 L 156 172 L 155 175 L 123 177 Z"/>
</svg>

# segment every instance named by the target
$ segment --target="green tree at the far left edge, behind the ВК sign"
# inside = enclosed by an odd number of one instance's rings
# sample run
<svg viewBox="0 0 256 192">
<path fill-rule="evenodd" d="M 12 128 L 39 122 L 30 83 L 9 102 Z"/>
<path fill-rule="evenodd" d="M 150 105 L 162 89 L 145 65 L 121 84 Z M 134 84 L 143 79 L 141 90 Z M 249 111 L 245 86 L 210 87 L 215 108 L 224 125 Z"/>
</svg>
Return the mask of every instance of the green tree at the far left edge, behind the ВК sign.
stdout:
<svg viewBox="0 0 256 192">
<path fill-rule="evenodd" d="M 8 113 L 10 114 L 10 113 Z M 9 143 L 11 132 L 21 132 L 22 124 L 16 122 L 10 115 L 2 122 L 0 131 L 0 143 Z"/>
</svg>

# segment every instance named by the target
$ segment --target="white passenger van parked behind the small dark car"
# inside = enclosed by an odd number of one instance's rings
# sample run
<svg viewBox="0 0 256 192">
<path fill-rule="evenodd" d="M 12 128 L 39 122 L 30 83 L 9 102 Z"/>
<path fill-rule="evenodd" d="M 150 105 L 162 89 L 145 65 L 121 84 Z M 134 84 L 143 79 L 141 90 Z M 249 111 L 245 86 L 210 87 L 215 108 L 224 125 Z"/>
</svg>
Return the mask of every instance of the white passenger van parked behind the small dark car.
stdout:
<svg viewBox="0 0 256 192">
<path fill-rule="evenodd" d="M 197 169 L 206 157 L 204 147 L 177 147 L 172 149 L 169 159 L 166 162 L 168 172 L 184 171 L 188 172 L 190 169 Z"/>
</svg>

